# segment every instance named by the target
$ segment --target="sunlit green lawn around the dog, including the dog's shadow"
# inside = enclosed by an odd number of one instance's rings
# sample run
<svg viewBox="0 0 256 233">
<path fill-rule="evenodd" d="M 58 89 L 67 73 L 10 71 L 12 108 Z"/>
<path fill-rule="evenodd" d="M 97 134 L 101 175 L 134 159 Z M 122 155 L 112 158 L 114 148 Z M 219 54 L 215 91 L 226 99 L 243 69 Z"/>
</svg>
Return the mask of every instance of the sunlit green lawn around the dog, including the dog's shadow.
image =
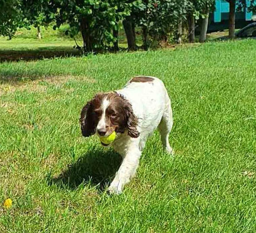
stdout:
<svg viewBox="0 0 256 233">
<path fill-rule="evenodd" d="M 0 64 L 0 232 L 255 232 L 256 40 Z M 135 179 L 105 192 L 120 164 L 82 138 L 97 92 L 134 75 L 170 94 L 175 158 L 159 134 Z M 139 96 L 138 96 L 139 98 Z"/>
</svg>

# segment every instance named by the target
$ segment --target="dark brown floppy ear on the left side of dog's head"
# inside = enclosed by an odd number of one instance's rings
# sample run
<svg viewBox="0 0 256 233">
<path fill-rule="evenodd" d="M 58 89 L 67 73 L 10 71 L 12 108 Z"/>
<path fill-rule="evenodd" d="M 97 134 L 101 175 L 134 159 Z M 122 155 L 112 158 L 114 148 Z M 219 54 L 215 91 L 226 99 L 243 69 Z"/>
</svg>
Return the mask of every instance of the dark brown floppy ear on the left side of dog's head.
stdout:
<svg viewBox="0 0 256 233">
<path fill-rule="evenodd" d="M 93 114 L 93 99 L 82 108 L 80 124 L 83 136 L 91 136 L 96 132 L 96 120 Z"/>
</svg>

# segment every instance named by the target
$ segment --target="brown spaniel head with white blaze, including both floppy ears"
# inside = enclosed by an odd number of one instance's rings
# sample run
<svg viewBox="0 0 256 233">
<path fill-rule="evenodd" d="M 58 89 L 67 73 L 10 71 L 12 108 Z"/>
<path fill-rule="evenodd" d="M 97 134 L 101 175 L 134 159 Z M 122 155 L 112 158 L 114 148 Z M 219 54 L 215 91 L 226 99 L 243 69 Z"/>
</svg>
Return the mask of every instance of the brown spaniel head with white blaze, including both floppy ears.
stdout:
<svg viewBox="0 0 256 233">
<path fill-rule="evenodd" d="M 113 131 L 127 133 L 137 138 L 137 117 L 132 111 L 131 104 L 117 93 L 102 93 L 87 102 L 82 108 L 80 124 L 83 136 L 95 133 L 109 136 Z"/>
</svg>

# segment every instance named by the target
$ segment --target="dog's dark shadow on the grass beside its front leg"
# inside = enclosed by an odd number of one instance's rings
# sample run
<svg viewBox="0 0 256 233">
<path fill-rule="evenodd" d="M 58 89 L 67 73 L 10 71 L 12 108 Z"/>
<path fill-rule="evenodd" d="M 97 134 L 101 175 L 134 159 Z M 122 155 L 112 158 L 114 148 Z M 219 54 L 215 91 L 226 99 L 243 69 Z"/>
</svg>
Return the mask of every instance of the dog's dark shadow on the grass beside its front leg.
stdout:
<svg viewBox="0 0 256 233">
<path fill-rule="evenodd" d="M 88 151 L 61 174 L 50 178 L 49 184 L 73 190 L 82 183 L 90 183 L 102 191 L 114 178 L 121 161 L 121 156 L 112 150 Z"/>
</svg>

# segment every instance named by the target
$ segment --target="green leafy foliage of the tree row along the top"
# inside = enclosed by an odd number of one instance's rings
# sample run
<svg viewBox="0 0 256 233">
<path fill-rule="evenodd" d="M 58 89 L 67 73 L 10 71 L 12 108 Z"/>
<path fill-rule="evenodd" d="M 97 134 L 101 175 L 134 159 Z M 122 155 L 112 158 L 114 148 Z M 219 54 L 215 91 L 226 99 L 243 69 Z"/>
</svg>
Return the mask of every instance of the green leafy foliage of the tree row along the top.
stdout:
<svg viewBox="0 0 256 233">
<path fill-rule="evenodd" d="M 235 1 L 235 0 L 227 0 Z M 248 1 L 239 0 L 238 9 Z M 213 11 L 214 0 L 0 0 L 0 35 L 11 38 L 18 27 L 40 27 L 55 22 L 55 29 L 70 24 L 66 34 L 82 33 L 86 52 L 109 49 L 123 19 L 142 27 L 151 41 L 171 38 L 178 23 L 191 15 L 197 21 Z M 255 9 L 254 0 L 249 9 Z M 185 23 L 186 24 L 186 23 Z M 144 34 L 145 33 L 145 34 Z M 135 34 L 135 33 L 134 33 Z M 135 37 L 135 36 L 134 36 Z"/>
</svg>

